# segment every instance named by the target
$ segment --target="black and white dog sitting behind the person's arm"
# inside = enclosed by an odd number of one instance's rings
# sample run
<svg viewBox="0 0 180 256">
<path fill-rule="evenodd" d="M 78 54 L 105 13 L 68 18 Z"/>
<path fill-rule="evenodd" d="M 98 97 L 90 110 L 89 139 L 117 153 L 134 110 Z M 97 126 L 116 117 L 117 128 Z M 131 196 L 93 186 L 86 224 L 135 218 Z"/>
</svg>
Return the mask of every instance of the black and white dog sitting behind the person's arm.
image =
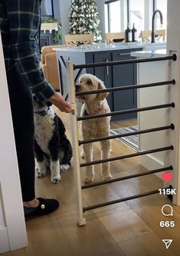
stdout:
<svg viewBox="0 0 180 256">
<path fill-rule="evenodd" d="M 51 182 L 61 181 L 61 171 L 70 167 L 72 148 L 65 135 L 64 123 L 54 110 L 51 102 L 39 101 L 34 96 L 34 151 L 38 161 L 38 177 L 51 170 Z"/>
</svg>

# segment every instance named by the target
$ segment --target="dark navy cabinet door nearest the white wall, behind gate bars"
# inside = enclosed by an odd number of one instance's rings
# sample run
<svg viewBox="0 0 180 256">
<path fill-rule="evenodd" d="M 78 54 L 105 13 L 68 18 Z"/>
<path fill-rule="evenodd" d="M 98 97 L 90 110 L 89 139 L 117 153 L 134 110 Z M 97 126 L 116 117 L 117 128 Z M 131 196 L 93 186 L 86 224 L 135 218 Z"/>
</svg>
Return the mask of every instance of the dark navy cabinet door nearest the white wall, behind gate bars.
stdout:
<svg viewBox="0 0 180 256">
<path fill-rule="evenodd" d="M 123 61 L 133 58 L 131 57 L 130 52 L 133 51 L 125 50 L 113 52 L 113 61 Z M 136 85 L 136 80 L 136 64 L 113 65 L 113 87 Z M 114 92 L 113 104 L 114 111 L 136 108 L 137 90 L 131 89 L 126 91 Z M 136 116 L 136 113 L 119 115 L 114 117 L 113 120 L 136 118 Z"/>
</svg>

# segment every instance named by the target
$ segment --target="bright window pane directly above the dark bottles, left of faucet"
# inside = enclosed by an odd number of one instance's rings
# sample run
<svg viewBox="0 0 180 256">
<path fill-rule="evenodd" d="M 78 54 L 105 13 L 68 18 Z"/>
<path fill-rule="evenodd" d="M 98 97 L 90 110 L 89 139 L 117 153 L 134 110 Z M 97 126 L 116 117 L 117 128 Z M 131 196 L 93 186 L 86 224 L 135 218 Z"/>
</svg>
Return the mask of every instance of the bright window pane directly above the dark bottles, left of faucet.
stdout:
<svg viewBox="0 0 180 256">
<path fill-rule="evenodd" d="M 129 0 L 129 23 L 139 31 L 144 30 L 145 0 Z"/>
</svg>

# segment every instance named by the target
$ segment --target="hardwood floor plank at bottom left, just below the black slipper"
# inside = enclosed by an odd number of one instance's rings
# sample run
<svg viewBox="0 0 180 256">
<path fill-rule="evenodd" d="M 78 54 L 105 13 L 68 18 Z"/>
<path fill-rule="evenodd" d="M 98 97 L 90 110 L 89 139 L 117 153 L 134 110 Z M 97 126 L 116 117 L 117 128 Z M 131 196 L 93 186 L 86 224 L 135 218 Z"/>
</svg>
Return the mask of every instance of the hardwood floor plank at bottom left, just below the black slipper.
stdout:
<svg viewBox="0 0 180 256">
<path fill-rule="evenodd" d="M 28 247 L 26 256 L 61 255 L 73 256 L 66 236 L 57 221 L 53 219 L 54 213 L 31 221 L 27 221 Z"/>
</svg>

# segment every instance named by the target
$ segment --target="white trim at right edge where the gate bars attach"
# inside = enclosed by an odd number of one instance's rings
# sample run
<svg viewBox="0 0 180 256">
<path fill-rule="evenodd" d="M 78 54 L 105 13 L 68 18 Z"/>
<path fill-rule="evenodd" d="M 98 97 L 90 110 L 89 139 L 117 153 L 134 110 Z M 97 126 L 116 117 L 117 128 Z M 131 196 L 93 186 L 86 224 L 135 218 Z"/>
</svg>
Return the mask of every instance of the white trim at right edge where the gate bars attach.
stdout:
<svg viewBox="0 0 180 256">
<path fill-rule="evenodd" d="M 170 62 L 171 69 L 169 69 L 168 78 L 175 78 L 175 86 L 171 87 L 169 91 L 169 101 L 175 102 L 175 108 L 169 111 L 169 118 L 175 124 L 175 131 L 169 137 L 174 146 L 174 152 L 169 155 L 172 160 L 174 168 L 174 178 L 172 179 L 173 186 L 176 188 L 176 196 L 173 197 L 173 202 L 180 205 L 180 27 L 179 23 L 179 12 L 180 1 L 179 0 L 168 0 L 168 26 L 167 26 L 167 52 L 172 54 L 176 52 L 177 61 Z M 171 72 L 170 72 L 171 71 Z"/>
</svg>

